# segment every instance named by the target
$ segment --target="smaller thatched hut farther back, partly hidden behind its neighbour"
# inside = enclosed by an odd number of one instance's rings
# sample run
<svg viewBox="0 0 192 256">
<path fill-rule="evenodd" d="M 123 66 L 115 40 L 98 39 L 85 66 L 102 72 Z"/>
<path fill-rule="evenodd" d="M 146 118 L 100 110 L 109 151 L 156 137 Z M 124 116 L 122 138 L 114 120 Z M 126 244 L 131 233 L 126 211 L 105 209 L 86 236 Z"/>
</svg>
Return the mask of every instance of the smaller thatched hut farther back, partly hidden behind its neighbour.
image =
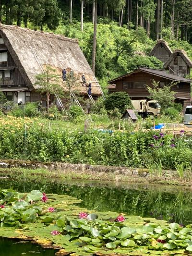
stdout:
<svg viewBox="0 0 192 256">
<path fill-rule="evenodd" d="M 169 60 L 172 54 L 172 50 L 168 47 L 168 43 L 165 40 L 157 40 L 156 45 L 149 53 L 149 56 L 155 56 L 158 60 L 165 63 Z"/>
</svg>

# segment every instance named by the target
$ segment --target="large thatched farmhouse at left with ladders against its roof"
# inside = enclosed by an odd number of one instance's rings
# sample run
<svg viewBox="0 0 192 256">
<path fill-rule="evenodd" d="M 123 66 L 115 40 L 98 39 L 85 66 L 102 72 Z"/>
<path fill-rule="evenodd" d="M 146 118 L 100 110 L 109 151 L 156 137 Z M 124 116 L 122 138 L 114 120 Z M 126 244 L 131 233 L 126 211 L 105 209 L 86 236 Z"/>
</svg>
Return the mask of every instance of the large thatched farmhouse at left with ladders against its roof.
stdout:
<svg viewBox="0 0 192 256">
<path fill-rule="evenodd" d="M 92 81 L 92 96 L 101 96 L 99 85 L 77 40 L 0 24 L 0 91 L 8 100 L 15 103 L 40 101 L 42 96 L 36 91 L 36 75 L 43 73 L 46 65 L 56 69 L 61 84 L 63 68 L 68 72 L 73 70 L 80 82 L 84 73 L 86 80 Z M 77 91 L 88 98 L 81 84 Z"/>
</svg>

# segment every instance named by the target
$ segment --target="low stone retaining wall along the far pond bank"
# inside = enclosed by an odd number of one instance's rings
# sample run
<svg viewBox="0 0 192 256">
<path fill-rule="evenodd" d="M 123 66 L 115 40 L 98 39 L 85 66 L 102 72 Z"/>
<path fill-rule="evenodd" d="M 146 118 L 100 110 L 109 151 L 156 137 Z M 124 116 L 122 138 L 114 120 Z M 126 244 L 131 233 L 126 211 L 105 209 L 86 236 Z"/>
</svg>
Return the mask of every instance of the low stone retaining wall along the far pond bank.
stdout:
<svg viewBox="0 0 192 256">
<path fill-rule="evenodd" d="M 132 169 L 120 166 L 102 166 L 89 164 L 70 164 L 58 162 L 37 162 L 24 160 L 0 160 L 0 168 L 21 167 L 28 169 L 44 168 L 48 171 L 76 171 L 76 172 L 105 172 L 116 175 L 140 176 L 148 177 L 149 173 L 146 169 Z M 175 176 L 175 171 L 165 171 L 164 175 Z"/>
</svg>

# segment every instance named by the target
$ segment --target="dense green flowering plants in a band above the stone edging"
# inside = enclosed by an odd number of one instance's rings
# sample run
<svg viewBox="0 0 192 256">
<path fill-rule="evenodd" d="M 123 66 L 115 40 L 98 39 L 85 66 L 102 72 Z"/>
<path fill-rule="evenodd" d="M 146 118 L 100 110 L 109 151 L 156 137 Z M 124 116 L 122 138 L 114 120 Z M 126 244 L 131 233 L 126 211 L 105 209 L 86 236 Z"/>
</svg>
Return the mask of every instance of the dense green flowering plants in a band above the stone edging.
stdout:
<svg viewBox="0 0 192 256">
<path fill-rule="evenodd" d="M 156 131 L 69 131 L 59 127 L 50 129 L 29 118 L 8 117 L 0 122 L 0 155 L 10 159 L 133 167 L 148 167 L 154 161 L 161 161 L 163 168 L 169 169 L 183 162 L 184 168 L 190 169 L 191 140 L 183 135 L 181 131 L 181 136 L 173 139 L 172 134 Z"/>
</svg>

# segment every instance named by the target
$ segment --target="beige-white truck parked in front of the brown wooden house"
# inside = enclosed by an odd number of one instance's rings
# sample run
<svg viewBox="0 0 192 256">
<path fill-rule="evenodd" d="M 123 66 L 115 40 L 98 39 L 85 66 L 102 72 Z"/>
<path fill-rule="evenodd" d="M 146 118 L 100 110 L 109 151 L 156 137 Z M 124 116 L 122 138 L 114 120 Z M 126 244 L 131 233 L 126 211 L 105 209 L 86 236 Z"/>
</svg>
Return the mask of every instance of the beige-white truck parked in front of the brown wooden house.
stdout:
<svg viewBox="0 0 192 256">
<path fill-rule="evenodd" d="M 135 99 L 132 100 L 132 106 L 142 117 L 147 115 L 158 116 L 160 114 L 160 105 L 156 100 Z"/>
</svg>

